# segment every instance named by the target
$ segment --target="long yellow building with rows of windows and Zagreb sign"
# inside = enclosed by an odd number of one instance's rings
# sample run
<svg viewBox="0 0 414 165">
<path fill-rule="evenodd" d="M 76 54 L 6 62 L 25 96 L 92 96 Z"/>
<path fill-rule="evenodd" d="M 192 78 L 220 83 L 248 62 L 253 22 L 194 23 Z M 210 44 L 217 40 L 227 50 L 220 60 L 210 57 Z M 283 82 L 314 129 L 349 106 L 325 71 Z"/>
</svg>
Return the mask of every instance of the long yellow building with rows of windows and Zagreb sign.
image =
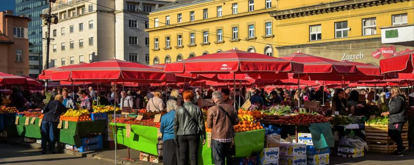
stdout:
<svg viewBox="0 0 414 165">
<path fill-rule="evenodd" d="M 380 28 L 412 26 L 414 0 L 177 0 L 149 19 L 151 65 L 233 48 L 378 64 Z"/>
</svg>

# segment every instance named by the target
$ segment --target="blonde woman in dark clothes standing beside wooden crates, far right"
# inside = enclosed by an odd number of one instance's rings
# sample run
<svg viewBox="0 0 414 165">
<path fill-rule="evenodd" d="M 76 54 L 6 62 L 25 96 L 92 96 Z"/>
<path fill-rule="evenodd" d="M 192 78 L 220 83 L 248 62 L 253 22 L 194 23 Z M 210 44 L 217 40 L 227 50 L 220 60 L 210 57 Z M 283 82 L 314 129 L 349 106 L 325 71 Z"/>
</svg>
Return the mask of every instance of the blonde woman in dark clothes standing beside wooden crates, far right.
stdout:
<svg viewBox="0 0 414 165">
<path fill-rule="evenodd" d="M 402 126 L 407 121 L 405 107 L 405 97 L 401 95 L 399 87 L 391 87 L 391 98 L 390 102 L 388 103 L 388 112 L 384 112 L 381 114 L 390 115 L 388 135 L 397 144 L 397 150 L 391 153 L 391 156 L 404 156 L 402 152 L 406 151 L 406 148 L 402 145 L 401 137 Z"/>
</svg>

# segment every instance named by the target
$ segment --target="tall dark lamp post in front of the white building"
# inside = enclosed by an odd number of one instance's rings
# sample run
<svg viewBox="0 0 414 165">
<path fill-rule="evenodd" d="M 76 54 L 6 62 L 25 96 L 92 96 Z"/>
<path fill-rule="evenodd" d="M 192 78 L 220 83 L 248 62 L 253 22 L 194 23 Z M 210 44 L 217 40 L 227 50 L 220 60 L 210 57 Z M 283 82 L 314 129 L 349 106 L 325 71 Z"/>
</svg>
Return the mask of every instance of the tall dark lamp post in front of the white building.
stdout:
<svg viewBox="0 0 414 165">
<path fill-rule="evenodd" d="M 50 46 L 50 41 L 54 40 L 53 38 L 50 38 L 50 25 L 52 23 L 57 24 L 58 22 L 58 18 L 56 15 L 52 15 L 52 3 L 55 3 L 56 0 L 48 0 L 49 1 L 49 12 L 47 14 L 40 14 L 40 18 L 43 20 L 43 24 L 47 25 L 47 36 L 45 38 L 46 40 L 46 69 L 49 68 L 49 46 Z M 46 80 L 46 85 L 45 85 L 45 92 L 47 92 L 47 84 L 48 80 Z"/>
</svg>

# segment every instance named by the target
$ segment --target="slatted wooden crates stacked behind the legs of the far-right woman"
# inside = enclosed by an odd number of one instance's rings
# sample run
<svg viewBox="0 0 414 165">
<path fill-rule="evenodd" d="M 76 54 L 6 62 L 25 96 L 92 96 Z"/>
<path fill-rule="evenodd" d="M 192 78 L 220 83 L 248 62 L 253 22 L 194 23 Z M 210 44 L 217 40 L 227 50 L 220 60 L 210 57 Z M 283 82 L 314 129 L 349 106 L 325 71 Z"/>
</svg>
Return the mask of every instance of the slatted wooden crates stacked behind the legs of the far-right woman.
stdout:
<svg viewBox="0 0 414 165">
<path fill-rule="evenodd" d="M 408 122 L 401 132 L 403 145 L 408 149 Z M 388 125 L 365 123 L 365 138 L 370 152 L 391 153 L 396 150 L 396 144 L 388 135 Z"/>
</svg>

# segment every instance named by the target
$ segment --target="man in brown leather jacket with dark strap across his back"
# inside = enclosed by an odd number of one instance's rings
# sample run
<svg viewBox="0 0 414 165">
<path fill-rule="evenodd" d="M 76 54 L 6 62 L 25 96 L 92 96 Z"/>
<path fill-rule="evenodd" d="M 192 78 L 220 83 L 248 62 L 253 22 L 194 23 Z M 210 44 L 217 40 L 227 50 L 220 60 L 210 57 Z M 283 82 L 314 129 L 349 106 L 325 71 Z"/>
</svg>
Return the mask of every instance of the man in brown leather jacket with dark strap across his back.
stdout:
<svg viewBox="0 0 414 165">
<path fill-rule="evenodd" d="M 230 150 L 235 135 L 233 126 L 239 123 L 239 117 L 234 111 L 233 105 L 223 101 L 220 91 L 214 91 L 212 99 L 215 106 L 207 111 L 207 128 L 212 129 L 211 152 L 213 153 L 214 164 L 233 165 Z"/>
</svg>

